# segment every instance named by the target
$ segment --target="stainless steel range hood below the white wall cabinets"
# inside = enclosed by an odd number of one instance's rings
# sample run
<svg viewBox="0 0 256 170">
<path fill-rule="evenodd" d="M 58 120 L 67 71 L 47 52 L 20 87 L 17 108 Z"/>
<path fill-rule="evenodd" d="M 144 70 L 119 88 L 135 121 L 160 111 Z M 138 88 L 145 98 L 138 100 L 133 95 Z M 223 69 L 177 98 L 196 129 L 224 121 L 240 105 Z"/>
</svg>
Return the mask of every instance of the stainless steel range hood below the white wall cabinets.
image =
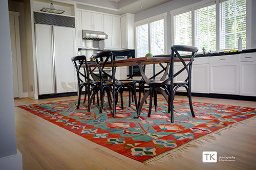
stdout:
<svg viewBox="0 0 256 170">
<path fill-rule="evenodd" d="M 82 30 L 82 39 L 100 41 L 108 39 L 108 35 L 100 31 Z"/>
</svg>

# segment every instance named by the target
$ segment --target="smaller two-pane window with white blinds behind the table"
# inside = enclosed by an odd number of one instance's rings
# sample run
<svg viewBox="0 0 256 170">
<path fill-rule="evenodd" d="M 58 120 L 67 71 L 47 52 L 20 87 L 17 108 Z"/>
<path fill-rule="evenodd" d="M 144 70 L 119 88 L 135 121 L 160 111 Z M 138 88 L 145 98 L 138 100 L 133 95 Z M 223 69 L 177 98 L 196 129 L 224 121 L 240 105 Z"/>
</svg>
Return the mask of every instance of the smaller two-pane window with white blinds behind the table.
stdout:
<svg viewBox="0 0 256 170">
<path fill-rule="evenodd" d="M 144 22 L 135 23 L 136 57 L 165 54 L 164 16 L 148 18 Z"/>
</svg>

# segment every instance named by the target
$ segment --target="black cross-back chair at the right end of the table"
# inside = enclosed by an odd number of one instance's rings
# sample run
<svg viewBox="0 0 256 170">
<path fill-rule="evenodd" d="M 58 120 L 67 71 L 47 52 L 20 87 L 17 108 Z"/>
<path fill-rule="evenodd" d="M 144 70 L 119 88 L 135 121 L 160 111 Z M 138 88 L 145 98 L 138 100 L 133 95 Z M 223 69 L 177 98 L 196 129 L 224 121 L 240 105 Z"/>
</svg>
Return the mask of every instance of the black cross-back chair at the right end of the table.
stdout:
<svg viewBox="0 0 256 170">
<path fill-rule="evenodd" d="M 152 92 L 157 87 L 161 87 L 164 89 L 164 92 L 168 96 L 167 99 L 165 98 L 166 101 L 168 102 L 168 113 L 170 113 L 170 120 L 173 123 L 174 122 L 174 105 L 173 105 L 174 103 L 173 102 L 174 102 L 174 96 L 175 96 L 176 90 L 179 87 L 185 87 L 185 89 L 187 91 L 188 100 L 189 100 L 190 111 L 191 111 L 192 116 L 195 117 L 192 100 L 191 100 L 191 69 L 192 69 L 192 63 L 197 54 L 198 48 L 194 47 L 194 46 L 187 46 L 187 45 L 173 45 L 171 47 L 171 49 L 172 49 L 172 55 L 171 55 L 171 63 L 170 63 L 170 68 L 169 68 L 169 78 L 164 81 L 151 81 L 150 82 L 150 93 L 152 94 Z M 190 60 L 188 63 L 185 63 L 183 58 L 180 56 L 179 51 L 191 52 Z M 176 72 L 176 74 L 174 74 L 174 70 L 173 70 L 175 57 L 178 57 L 184 66 L 182 69 L 180 69 L 178 72 Z M 176 76 L 178 76 L 179 74 L 181 74 L 181 72 L 183 72 L 184 70 L 186 70 L 187 78 L 184 81 L 174 81 L 174 78 Z M 148 111 L 148 115 L 147 115 L 148 117 L 150 117 L 150 115 L 151 115 L 152 95 L 150 97 L 150 108 L 149 109 L 150 110 Z"/>
</svg>

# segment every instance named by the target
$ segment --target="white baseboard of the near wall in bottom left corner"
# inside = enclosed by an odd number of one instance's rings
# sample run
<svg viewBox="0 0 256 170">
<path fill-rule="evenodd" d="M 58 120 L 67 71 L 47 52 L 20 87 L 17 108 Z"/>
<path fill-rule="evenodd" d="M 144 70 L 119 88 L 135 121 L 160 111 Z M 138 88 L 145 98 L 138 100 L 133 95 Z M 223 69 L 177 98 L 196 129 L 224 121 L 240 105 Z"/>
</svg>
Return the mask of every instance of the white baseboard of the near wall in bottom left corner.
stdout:
<svg viewBox="0 0 256 170">
<path fill-rule="evenodd" d="M 22 154 L 17 149 L 16 155 L 0 158 L 0 169 L 2 170 L 22 170 Z"/>
</svg>

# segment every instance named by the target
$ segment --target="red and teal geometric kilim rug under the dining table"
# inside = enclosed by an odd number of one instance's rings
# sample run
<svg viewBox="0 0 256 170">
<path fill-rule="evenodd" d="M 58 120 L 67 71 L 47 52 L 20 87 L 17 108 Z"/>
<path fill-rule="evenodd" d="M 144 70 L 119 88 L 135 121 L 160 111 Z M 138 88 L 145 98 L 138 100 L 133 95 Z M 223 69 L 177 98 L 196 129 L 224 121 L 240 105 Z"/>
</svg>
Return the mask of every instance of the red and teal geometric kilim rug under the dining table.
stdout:
<svg viewBox="0 0 256 170">
<path fill-rule="evenodd" d="M 106 100 L 106 98 L 105 98 Z M 139 119 L 135 105 L 128 107 L 127 95 L 124 109 L 117 106 L 116 117 L 112 117 L 105 101 L 103 113 L 96 105 L 87 112 L 87 103 L 76 109 L 77 100 L 30 104 L 18 106 L 49 122 L 65 128 L 92 142 L 119 154 L 148 163 L 180 149 L 186 143 L 207 137 L 212 132 L 241 122 L 256 114 L 255 108 L 193 103 L 196 117 L 192 117 L 186 101 L 174 102 L 175 123 L 170 123 L 167 102 L 158 99 L 158 111 L 147 117 L 148 104 L 144 104 Z M 210 136 L 210 135 L 209 135 Z"/>
</svg>

